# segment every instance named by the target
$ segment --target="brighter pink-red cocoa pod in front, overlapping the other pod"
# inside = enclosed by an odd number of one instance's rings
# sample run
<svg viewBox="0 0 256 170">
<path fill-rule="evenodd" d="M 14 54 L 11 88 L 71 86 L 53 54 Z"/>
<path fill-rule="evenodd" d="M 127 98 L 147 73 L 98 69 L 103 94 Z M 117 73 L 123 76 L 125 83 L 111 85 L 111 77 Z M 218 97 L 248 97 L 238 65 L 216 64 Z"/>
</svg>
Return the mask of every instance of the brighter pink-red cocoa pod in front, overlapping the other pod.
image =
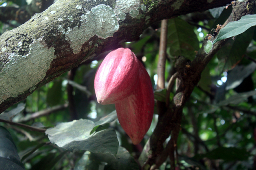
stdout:
<svg viewBox="0 0 256 170">
<path fill-rule="evenodd" d="M 138 62 L 129 48 L 118 48 L 105 57 L 94 80 L 98 103 L 113 104 L 133 93 L 138 84 Z"/>
</svg>

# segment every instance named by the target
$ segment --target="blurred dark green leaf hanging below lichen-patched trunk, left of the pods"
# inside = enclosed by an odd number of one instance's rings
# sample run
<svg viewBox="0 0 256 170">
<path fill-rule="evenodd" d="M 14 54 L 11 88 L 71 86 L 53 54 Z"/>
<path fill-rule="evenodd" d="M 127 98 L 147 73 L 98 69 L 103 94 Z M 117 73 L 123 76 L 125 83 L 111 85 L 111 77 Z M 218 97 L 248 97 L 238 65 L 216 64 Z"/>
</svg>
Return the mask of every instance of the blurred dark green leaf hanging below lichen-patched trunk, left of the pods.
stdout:
<svg viewBox="0 0 256 170">
<path fill-rule="evenodd" d="M 62 100 L 62 81 L 54 81 L 53 87 L 48 90 L 46 102 L 49 106 L 56 106 L 61 104 Z"/>
</svg>

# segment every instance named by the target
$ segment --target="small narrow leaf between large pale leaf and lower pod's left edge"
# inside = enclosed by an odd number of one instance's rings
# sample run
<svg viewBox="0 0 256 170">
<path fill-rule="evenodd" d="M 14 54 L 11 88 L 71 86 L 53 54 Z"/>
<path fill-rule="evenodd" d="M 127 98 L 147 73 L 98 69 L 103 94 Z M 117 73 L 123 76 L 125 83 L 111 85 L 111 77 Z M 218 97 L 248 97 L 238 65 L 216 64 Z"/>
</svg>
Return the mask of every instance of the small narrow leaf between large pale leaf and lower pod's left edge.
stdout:
<svg viewBox="0 0 256 170">
<path fill-rule="evenodd" d="M 110 114 L 106 115 L 105 117 L 99 119 L 98 122 L 95 122 L 95 127 L 90 132 L 90 135 L 92 135 L 93 132 L 99 132 L 99 131 L 105 129 L 102 125 L 104 125 L 106 123 L 113 122 L 115 119 L 117 119 L 116 110 L 114 110 Z"/>
</svg>

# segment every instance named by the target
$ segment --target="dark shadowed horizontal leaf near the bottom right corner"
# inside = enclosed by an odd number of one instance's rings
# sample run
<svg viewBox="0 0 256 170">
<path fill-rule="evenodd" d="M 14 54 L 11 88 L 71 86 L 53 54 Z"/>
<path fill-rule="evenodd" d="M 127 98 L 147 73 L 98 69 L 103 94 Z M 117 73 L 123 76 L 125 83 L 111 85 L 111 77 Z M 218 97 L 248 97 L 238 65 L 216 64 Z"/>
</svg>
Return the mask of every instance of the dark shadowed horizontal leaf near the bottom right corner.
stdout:
<svg viewBox="0 0 256 170">
<path fill-rule="evenodd" d="M 202 159 L 203 157 L 207 157 L 209 159 L 222 159 L 224 161 L 237 161 L 237 160 L 248 160 L 250 153 L 246 151 L 246 149 L 239 148 L 225 148 L 219 147 L 213 149 L 213 151 L 207 152 L 206 154 L 196 155 L 195 158 Z"/>
</svg>

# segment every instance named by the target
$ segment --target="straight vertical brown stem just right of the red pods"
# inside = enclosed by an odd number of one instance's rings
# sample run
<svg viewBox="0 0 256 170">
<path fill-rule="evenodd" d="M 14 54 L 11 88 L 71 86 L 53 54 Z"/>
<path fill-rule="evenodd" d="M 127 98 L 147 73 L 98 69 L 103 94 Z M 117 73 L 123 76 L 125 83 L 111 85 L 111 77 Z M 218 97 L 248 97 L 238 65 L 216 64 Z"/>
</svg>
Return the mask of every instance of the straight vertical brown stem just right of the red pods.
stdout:
<svg viewBox="0 0 256 170">
<path fill-rule="evenodd" d="M 158 58 L 158 82 L 157 89 L 164 89 L 165 87 L 165 63 L 166 63 L 166 47 L 167 47 L 167 26 L 168 20 L 164 19 L 161 22 L 161 35 L 159 45 L 159 58 Z M 157 101 L 157 111 L 159 117 L 166 112 L 165 103 Z"/>
</svg>

